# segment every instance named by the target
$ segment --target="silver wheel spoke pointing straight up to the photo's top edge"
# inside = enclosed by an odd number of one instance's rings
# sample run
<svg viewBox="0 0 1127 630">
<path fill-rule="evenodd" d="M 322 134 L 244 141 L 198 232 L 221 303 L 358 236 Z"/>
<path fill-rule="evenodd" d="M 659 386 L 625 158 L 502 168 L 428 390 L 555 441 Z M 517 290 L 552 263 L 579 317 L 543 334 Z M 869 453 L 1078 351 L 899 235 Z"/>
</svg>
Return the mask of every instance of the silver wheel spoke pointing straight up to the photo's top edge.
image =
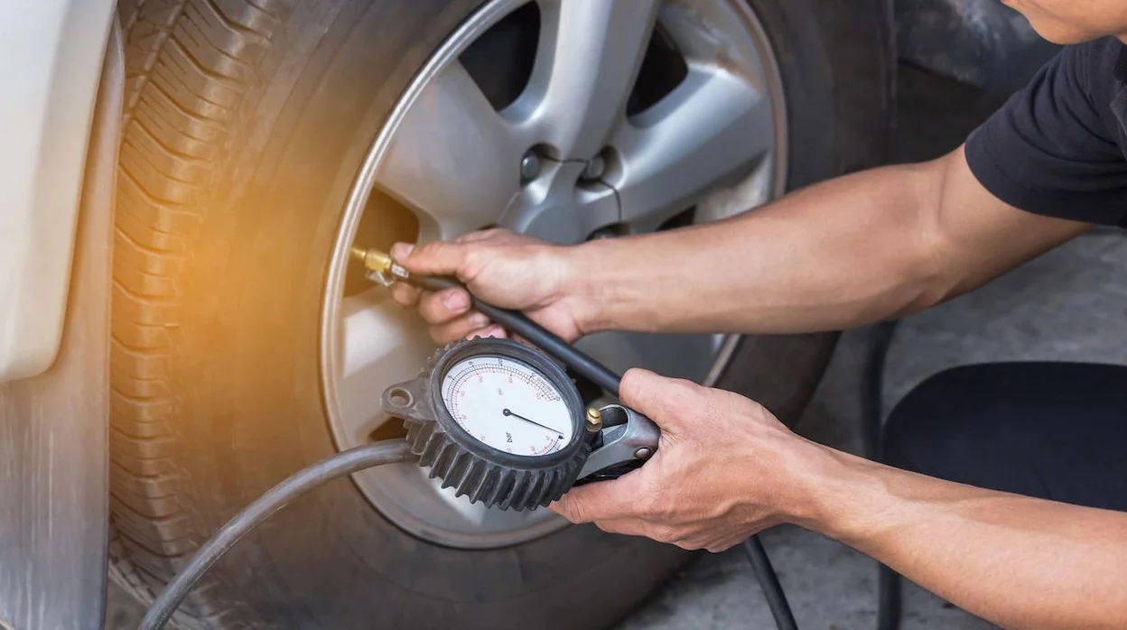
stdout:
<svg viewBox="0 0 1127 630">
<path fill-rule="evenodd" d="M 586 160 L 625 116 L 658 0 L 538 0 L 540 46 L 525 94 L 505 112 L 559 151 Z"/>
</svg>

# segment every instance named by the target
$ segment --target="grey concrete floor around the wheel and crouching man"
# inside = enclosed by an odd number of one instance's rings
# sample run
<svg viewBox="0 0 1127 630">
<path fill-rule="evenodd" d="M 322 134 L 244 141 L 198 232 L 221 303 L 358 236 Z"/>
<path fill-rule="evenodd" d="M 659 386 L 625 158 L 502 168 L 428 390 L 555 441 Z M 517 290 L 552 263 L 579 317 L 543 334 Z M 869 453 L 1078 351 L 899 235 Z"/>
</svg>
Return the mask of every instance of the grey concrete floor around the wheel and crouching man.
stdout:
<svg viewBox="0 0 1127 630">
<path fill-rule="evenodd" d="M 961 86 L 904 69 L 898 161 L 939 156 L 997 104 Z M 951 112 L 957 114 L 951 116 Z M 914 384 L 952 365 L 1063 358 L 1127 363 L 1127 238 L 1084 237 L 975 293 L 908 318 L 887 370 L 885 408 Z M 798 431 L 860 452 L 861 365 L 870 330 L 848 331 Z M 876 567 L 864 556 L 797 527 L 763 536 L 804 630 L 875 627 Z M 109 588 L 107 628 L 135 628 L 139 606 Z M 701 554 L 620 630 L 772 628 L 758 585 L 737 550 Z M 914 585 L 905 592 L 904 630 L 993 628 Z"/>
</svg>

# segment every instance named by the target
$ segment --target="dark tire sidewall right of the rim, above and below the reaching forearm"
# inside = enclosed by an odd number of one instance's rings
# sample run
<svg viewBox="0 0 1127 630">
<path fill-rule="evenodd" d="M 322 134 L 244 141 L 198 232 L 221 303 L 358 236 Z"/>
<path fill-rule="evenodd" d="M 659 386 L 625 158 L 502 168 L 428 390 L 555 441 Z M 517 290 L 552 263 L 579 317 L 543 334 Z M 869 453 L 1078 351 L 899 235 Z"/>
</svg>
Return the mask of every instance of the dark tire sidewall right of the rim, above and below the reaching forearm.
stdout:
<svg viewBox="0 0 1127 630">
<path fill-rule="evenodd" d="M 896 69 L 891 5 L 745 2 L 771 41 L 782 78 L 788 193 L 885 163 Z M 753 398 L 795 426 L 837 338 L 836 332 L 744 336 L 717 387 Z M 787 360 L 762 360 L 780 356 Z"/>
</svg>

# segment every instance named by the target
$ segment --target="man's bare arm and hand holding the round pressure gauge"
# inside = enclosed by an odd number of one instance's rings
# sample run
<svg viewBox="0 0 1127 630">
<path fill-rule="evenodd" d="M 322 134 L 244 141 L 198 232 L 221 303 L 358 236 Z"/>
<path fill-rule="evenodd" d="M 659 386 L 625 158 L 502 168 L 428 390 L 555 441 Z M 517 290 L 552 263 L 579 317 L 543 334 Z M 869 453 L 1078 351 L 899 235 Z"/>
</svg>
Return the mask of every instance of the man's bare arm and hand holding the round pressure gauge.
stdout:
<svg viewBox="0 0 1127 630">
<path fill-rule="evenodd" d="M 574 522 L 720 551 L 781 522 L 840 540 L 1006 628 L 1127 628 L 1127 514 L 940 481 L 804 440 L 738 394 L 633 370 L 654 458 L 568 493 Z"/>
</svg>

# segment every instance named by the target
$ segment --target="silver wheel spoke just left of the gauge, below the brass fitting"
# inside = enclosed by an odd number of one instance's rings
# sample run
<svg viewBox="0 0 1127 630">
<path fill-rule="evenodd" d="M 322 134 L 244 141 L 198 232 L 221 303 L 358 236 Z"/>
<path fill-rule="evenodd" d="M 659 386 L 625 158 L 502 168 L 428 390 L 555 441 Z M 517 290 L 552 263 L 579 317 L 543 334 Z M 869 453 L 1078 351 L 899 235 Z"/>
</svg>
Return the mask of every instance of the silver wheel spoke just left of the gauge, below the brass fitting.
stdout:
<svg viewBox="0 0 1127 630">
<path fill-rule="evenodd" d="M 341 323 L 340 416 L 364 437 L 389 419 L 380 405 L 384 388 L 417 375 L 434 344 L 418 316 L 397 307 L 383 289 L 345 299 Z"/>
</svg>

